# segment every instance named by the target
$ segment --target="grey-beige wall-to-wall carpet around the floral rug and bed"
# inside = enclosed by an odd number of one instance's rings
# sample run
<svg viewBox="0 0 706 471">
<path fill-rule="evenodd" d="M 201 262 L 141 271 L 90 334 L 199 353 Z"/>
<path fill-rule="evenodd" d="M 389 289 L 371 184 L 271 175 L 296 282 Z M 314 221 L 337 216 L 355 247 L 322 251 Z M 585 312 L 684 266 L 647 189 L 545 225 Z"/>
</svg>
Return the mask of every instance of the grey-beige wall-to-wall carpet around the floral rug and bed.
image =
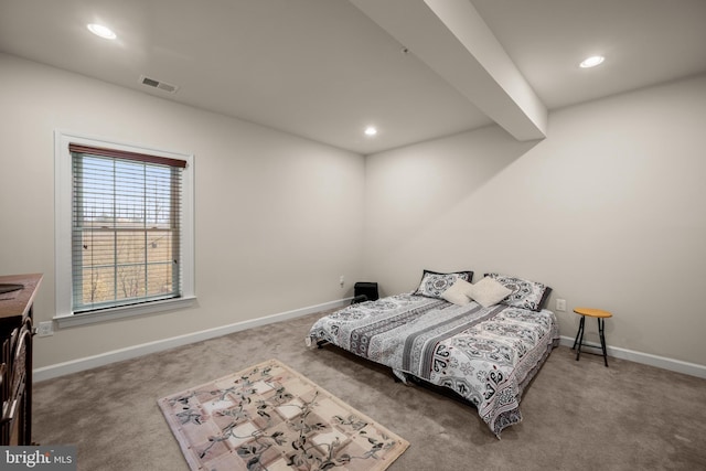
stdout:
<svg viewBox="0 0 706 471">
<path fill-rule="evenodd" d="M 318 317 L 36 384 L 33 439 L 77 445 L 79 470 L 185 471 L 157 399 L 280 358 L 409 441 L 388 471 L 706 469 L 706 379 L 613 357 L 609 367 L 595 355 L 577 362 L 561 346 L 525 389 L 523 422 L 498 440 L 468 405 L 340 350 L 304 347 Z"/>
</svg>

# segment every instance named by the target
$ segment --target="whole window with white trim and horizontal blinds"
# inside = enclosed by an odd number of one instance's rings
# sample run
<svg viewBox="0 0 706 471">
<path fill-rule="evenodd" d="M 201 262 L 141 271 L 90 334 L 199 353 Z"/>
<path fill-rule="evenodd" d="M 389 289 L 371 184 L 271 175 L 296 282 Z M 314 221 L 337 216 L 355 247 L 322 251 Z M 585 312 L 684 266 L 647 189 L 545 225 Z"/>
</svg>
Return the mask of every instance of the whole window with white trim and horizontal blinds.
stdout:
<svg viewBox="0 0 706 471">
<path fill-rule="evenodd" d="M 60 325 L 193 299 L 191 156 L 56 140 Z"/>
</svg>

